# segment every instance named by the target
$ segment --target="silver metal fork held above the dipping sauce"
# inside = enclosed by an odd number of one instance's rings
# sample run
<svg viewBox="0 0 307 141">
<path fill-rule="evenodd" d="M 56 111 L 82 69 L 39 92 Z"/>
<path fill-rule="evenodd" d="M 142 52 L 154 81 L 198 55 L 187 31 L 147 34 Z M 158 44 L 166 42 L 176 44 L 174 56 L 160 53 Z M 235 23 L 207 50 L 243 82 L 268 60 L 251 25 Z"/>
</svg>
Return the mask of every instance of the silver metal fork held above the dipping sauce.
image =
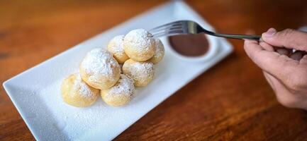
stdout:
<svg viewBox="0 0 307 141">
<path fill-rule="evenodd" d="M 201 25 L 192 20 L 178 20 L 165 25 L 160 25 L 149 31 L 153 37 L 173 36 L 173 35 L 185 35 L 185 34 L 199 34 L 205 33 L 207 35 L 213 35 L 216 37 L 226 37 L 232 39 L 253 39 L 259 40 L 259 35 L 230 35 L 211 32 L 203 29 Z"/>
</svg>

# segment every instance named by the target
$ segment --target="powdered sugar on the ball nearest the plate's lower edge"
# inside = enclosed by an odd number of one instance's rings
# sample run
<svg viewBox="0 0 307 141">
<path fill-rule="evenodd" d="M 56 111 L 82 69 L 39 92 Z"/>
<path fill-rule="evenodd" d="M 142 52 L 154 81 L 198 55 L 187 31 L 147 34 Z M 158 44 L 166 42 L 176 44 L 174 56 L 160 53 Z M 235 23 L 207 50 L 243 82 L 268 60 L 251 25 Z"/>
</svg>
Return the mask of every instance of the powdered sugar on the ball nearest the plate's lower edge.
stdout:
<svg viewBox="0 0 307 141">
<path fill-rule="evenodd" d="M 121 78 L 118 80 L 116 85 L 111 87 L 108 94 L 126 94 L 128 97 L 131 97 L 135 90 L 133 83 L 132 79 L 121 74 Z"/>
</svg>

